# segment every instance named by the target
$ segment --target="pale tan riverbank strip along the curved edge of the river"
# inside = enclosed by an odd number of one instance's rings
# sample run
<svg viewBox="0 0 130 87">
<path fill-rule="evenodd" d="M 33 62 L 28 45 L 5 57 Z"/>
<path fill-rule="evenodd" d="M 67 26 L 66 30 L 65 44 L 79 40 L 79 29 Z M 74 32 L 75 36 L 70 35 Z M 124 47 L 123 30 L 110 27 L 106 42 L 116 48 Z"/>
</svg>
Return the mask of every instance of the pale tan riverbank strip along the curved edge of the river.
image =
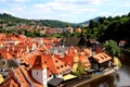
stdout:
<svg viewBox="0 0 130 87">
<path fill-rule="evenodd" d="M 101 77 L 103 77 L 103 76 L 109 75 L 109 74 L 116 72 L 117 70 L 119 70 L 119 66 L 114 66 L 113 69 L 106 70 L 106 71 L 103 72 L 102 74 L 94 75 L 92 78 L 89 78 L 89 79 L 87 79 L 87 80 L 83 80 L 83 79 L 82 79 L 82 82 L 77 83 L 77 84 L 73 85 L 72 87 L 78 87 L 78 86 L 80 86 L 80 85 L 90 83 L 90 82 L 92 82 L 92 80 L 94 80 L 94 79 L 98 79 L 98 78 L 101 78 Z"/>
</svg>

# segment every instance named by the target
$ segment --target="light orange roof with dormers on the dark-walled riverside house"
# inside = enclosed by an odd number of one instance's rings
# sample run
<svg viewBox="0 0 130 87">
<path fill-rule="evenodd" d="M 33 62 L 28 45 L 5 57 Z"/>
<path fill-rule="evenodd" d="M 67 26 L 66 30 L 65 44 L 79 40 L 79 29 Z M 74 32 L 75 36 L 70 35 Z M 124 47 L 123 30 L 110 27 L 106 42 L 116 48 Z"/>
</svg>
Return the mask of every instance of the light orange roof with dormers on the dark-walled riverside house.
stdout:
<svg viewBox="0 0 130 87">
<path fill-rule="evenodd" d="M 93 55 L 93 58 L 99 62 L 99 63 L 103 63 L 106 61 L 109 61 L 112 59 L 112 57 L 109 57 L 108 54 L 102 52 L 99 54 Z"/>
</svg>

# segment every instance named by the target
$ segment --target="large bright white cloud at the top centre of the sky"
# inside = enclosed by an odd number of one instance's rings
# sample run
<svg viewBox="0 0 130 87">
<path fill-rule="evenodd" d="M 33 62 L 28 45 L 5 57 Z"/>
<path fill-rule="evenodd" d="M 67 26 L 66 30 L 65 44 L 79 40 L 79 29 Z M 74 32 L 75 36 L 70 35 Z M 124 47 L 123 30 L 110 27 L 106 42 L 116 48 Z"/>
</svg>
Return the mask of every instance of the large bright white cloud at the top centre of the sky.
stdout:
<svg viewBox="0 0 130 87">
<path fill-rule="evenodd" d="M 83 4 L 81 4 L 83 3 Z M 93 12 L 95 9 L 88 8 L 90 4 L 98 4 L 100 0 L 54 0 L 49 3 L 34 4 L 35 8 L 46 11 L 61 11 L 61 12 Z"/>
</svg>

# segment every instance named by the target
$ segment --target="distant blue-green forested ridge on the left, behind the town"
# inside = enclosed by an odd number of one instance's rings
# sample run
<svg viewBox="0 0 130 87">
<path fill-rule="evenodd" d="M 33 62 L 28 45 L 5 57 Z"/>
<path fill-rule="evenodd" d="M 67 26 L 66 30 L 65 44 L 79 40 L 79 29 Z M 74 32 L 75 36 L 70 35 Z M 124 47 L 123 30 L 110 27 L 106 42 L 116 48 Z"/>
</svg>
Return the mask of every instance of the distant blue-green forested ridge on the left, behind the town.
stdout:
<svg viewBox="0 0 130 87">
<path fill-rule="evenodd" d="M 3 22 L 10 22 L 12 25 L 16 25 L 17 23 L 26 23 L 26 24 L 30 24 L 31 22 L 35 22 L 36 25 L 42 25 L 42 26 L 51 26 L 51 27 L 66 27 L 66 25 L 69 24 L 69 26 L 72 27 L 77 27 L 79 26 L 79 24 L 75 24 L 75 23 L 67 23 L 67 22 L 61 22 L 61 21 L 56 21 L 56 20 L 26 20 L 26 18 L 20 18 L 20 17 L 15 17 L 12 16 L 11 14 L 0 14 L 0 20 L 2 20 Z"/>
</svg>

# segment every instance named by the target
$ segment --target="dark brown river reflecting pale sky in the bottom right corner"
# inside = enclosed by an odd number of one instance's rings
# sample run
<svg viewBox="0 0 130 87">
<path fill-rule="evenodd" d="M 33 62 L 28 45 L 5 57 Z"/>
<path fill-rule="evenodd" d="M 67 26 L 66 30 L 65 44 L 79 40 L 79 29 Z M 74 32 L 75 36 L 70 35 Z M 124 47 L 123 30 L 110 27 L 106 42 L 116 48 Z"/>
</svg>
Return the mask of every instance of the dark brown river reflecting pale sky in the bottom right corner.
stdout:
<svg viewBox="0 0 130 87">
<path fill-rule="evenodd" d="M 121 69 L 114 74 L 83 84 L 79 87 L 130 87 L 130 54 L 121 54 Z"/>
</svg>

